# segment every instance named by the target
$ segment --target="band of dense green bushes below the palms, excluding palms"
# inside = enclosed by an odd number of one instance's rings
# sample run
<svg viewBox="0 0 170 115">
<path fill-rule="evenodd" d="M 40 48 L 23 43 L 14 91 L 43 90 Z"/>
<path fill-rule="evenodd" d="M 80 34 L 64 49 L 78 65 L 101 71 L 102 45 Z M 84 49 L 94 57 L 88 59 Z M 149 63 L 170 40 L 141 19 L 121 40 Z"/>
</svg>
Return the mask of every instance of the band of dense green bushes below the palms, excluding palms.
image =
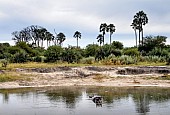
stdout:
<svg viewBox="0 0 170 115">
<path fill-rule="evenodd" d="M 143 44 L 124 48 L 119 41 L 103 46 L 89 44 L 85 48 L 61 45 L 34 47 L 26 42 L 0 44 L 0 59 L 10 63 L 58 62 L 58 63 L 103 63 L 113 65 L 138 64 L 138 62 L 167 62 L 170 64 L 170 46 L 166 45 L 165 36 L 147 36 Z"/>
</svg>

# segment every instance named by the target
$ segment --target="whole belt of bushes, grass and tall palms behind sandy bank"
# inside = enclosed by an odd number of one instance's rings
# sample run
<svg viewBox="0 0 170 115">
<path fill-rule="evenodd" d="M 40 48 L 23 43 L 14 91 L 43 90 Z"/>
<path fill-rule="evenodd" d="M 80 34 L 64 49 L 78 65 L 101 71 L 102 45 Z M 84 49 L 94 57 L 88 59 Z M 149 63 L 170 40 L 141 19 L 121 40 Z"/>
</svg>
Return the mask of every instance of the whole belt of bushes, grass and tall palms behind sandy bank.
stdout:
<svg viewBox="0 0 170 115">
<path fill-rule="evenodd" d="M 102 23 L 99 27 L 98 44 L 87 44 L 85 48 L 78 45 L 82 37 L 79 31 L 73 35 L 77 46 L 63 47 L 67 39 L 64 33 L 55 36 L 46 28 L 32 25 L 21 31 L 12 33 L 16 44 L 0 43 L 1 69 L 18 67 L 51 67 L 57 65 L 169 65 L 170 45 L 166 45 L 166 36 L 146 36 L 144 29 L 148 23 L 147 15 L 139 11 L 134 15 L 132 28 L 135 31 L 136 46 L 125 48 L 119 41 L 112 41 L 116 28 L 114 24 Z M 55 31 L 55 30 L 54 30 Z M 138 38 L 137 38 L 138 31 Z M 105 44 L 106 34 L 109 34 L 110 44 Z M 138 41 L 138 44 L 137 44 Z M 47 49 L 44 48 L 46 42 Z M 30 63 L 30 64 L 28 64 Z M 50 64 L 46 64 L 50 63 Z M 36 64 L 36 65 L 35 65 Z"/>
</svg>

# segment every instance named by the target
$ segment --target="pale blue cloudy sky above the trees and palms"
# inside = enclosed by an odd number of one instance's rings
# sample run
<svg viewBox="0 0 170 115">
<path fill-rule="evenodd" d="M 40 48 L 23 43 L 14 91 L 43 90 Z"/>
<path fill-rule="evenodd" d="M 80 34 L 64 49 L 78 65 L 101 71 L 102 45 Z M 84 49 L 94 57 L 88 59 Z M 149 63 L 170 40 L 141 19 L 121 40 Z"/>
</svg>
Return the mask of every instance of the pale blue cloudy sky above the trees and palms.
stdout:
<svg viewBox="0 0 170 115">
<path fill-rule="evenodd" d="M 75 31 L 82 34 L 79 45 L 97 43 L 101 23 L 114 24 L 112 40 L 135 46 L 133 16 L 143 10 L 149 19 L 144 36 L 166 36 L 170 44 L 170 0 L 0 0 L 0 42 L 14 45 L 11 33 L 31 25 L 49 32 L 63 32 L 63 45 L 76 46 Z M 109 33 L 105 36 L 109 43 Z"/>
</svg>

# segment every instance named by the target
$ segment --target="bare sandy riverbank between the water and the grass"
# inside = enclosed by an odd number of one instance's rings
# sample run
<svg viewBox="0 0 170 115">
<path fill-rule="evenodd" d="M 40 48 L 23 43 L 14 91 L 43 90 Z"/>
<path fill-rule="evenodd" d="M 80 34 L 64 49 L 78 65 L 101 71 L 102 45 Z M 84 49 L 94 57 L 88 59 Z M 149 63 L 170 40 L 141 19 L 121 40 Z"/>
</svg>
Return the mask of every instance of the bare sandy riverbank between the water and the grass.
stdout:
<svg viewBox="0 0 170 115">
<path fill-rule="evenodd" d="M 30 80 L 0 83 L 3 88 L 46 86 L 159 86 L 170 87 L 170 67 L 56 67 L 16 69 Z"/>
</svg>

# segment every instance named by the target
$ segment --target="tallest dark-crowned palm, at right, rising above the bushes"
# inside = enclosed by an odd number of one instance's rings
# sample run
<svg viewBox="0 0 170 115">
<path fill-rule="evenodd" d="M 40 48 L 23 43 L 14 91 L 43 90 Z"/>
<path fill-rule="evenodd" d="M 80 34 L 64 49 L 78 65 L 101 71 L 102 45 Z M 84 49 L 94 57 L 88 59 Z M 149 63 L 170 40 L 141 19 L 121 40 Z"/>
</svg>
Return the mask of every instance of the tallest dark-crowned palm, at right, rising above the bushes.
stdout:
<svg viewBox="0 0 170 115">
<path fill-rule="evenodd" d="M 139 30 L 139 45 L 143 45 L 143 26 L 147 23 L 148 17 L 143 11 L 139 11 L 138 13 L 136 13 L 132 22 L 132 26 L 134 27 L 134 29 Z M 142 37 L 142 44 L 140 37 Z"/>
</svg>

